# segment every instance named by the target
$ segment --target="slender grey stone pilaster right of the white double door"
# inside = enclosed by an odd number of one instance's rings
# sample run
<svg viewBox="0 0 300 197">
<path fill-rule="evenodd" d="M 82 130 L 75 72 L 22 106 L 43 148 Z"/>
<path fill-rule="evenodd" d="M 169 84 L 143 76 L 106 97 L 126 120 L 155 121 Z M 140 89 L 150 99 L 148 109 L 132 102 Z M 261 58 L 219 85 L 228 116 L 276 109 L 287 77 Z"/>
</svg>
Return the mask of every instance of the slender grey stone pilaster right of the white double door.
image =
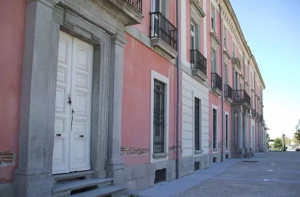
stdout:
<svg viewBox="0 0 300 197">
<path fill-rule="evenodd" d="M 109 113 L 107 138 L 107 176 L 113 184 L 124 184 L 124 162 L 120 160 L 121 115 L 123 85 L 123 48 L 126 40 L 114 34 L 111 36 L 110 76 L 109 76 Z"/>
</svg>

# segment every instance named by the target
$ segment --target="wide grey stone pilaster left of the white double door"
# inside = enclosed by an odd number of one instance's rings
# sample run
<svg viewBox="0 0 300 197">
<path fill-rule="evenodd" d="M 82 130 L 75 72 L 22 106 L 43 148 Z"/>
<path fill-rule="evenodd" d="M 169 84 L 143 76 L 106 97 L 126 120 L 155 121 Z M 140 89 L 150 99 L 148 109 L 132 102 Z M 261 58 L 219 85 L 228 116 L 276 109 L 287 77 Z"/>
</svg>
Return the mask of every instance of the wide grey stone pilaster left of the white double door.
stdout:
<svg viewBox="0 0 300 197">
<path fill-rule="evenodd" d="M 59 37 L 54 3 L 27 1 L 15 196 L 51 196 L 55 96 L 48 95 L 55 95 Z"/>
</svg>

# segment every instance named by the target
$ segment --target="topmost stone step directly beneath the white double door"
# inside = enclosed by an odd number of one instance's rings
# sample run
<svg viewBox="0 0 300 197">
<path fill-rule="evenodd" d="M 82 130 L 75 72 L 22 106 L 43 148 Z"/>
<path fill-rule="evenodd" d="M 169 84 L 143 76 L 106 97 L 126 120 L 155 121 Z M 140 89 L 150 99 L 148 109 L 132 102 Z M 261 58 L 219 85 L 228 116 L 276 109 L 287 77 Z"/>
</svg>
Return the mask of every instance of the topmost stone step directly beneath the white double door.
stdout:
<svg viewBox="0 0 300 197">
<path fill-rule="evenodd" d="M 70 172 L 70 173 L 62 173 L 62 174 L 53 174 L 52 175 L 52 181 L 53 186 L 61 181 L 71 181 L 72 179 L 86 179 L 91 178 L 93 174 L 93 170 L 88 171 L 77 171 L 77 172 Z"/>
</svg>

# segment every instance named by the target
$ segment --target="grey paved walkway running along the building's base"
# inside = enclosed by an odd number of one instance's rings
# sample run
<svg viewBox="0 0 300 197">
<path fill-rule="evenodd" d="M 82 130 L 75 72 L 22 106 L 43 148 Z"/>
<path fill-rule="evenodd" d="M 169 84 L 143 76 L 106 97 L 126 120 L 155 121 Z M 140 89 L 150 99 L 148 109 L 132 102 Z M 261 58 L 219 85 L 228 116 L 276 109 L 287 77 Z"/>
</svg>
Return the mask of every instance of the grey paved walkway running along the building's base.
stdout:
<svg viewBox="0 0 300 197">
<path fill-rule="evenodd" d="M 228 159 L 179 179 L 155 185 L 138 196 L 300 196 L 300 152 L 265 152 Z"/>
</svg>

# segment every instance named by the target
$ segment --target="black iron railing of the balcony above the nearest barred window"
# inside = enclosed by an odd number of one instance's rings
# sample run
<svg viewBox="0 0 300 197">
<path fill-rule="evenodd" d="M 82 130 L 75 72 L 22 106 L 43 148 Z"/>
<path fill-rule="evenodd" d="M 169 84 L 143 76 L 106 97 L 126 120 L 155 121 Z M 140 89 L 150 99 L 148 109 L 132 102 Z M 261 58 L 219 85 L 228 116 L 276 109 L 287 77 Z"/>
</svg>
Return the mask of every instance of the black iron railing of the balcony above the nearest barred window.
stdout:
<svg viewBox="0 0 300 197">
<path fill-rule="evenodd" d="M 150 38 L 159 37 L 177 50 L 177 28 L 159 11 L 151 12 Z"/>
</svg>

